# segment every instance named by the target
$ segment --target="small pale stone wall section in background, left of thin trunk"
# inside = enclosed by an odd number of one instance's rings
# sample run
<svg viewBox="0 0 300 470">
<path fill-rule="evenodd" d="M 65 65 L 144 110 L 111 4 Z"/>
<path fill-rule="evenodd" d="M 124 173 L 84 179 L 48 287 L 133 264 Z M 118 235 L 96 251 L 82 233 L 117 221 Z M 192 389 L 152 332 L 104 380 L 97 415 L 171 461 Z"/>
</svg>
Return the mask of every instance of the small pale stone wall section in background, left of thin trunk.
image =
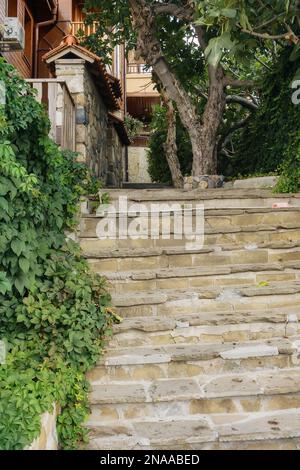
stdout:
<svg viewBox="0 0 300 470">
<path fill-rule="evenodd" d="M 148 173 L 148 148 L 131 146 L 128 149 L 129 183 L 151 183 Z"/>
</svg>

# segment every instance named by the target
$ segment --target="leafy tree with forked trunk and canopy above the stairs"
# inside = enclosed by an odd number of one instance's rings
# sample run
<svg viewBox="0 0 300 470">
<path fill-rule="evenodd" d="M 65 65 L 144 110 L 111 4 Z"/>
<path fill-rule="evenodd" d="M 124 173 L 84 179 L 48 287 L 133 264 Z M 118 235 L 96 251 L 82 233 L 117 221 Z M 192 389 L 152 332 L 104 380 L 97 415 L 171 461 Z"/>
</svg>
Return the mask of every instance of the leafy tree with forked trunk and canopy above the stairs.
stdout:
<svg viewBox="0 0 300 470">
<path fill-rule="evenodd" d="M 252 67 L 244 73 L 247 64 L 276 52 L 275 44 L 293 46 L 292 60 L 300 54 L 298 0 L 89 0 L 86 5 L 87 21 L 99 20 L 88 45 L 105 57 L 117 43 L 136 47 L 175 101 L 190 135 L 194 174 L 216 171 L 228 90 L 244 87 L 249 94 L 253 87 Z M 180 70 L 190 72 L 192 57 L 197 68 L 189 76 L 198 76 L 198 93 Z"/>
</svg>

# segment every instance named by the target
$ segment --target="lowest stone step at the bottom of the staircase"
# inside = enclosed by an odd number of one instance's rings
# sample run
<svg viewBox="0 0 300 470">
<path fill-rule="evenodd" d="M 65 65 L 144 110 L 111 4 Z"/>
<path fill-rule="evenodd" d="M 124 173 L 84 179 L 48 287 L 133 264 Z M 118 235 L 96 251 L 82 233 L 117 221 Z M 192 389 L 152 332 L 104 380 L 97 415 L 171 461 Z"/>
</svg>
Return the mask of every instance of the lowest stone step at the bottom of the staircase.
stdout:
<svg viewBox="0 0 300 470">
<path fill-rule="evenodd" d="M 184 450 L 236 442 L 252 442 L 259 449 L 264 443 L 271 445 L 273 441 L 299 438 L 300 410 L 221 414 L 214 419 L 196 415 L 184 419 L 124 420 L 117 424 L 89 421 L 88 427 L 90 449 L 174 449 L 180 446 Z"/>
</svg>

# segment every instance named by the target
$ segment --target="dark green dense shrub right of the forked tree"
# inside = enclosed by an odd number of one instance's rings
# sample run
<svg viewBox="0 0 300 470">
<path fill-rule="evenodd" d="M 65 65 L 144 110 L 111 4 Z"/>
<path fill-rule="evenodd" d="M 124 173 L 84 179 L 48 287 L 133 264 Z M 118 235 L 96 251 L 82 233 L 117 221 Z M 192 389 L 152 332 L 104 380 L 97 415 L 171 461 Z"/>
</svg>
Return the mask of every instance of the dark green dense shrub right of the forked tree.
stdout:
<svg viewBox="0 0 300 470">
<path fill-rule="evenodd" d="M 286 168 L 295 154 L 293 142 L 300 129 L 300 107 L 292 103 L 291 85 L 300 60 L 291 61 L 291 51 L 284 49 L 272 70 L 262 77 L 260 106 L 239 135 L 231 162 L 233 176 Z"/>
</svg>

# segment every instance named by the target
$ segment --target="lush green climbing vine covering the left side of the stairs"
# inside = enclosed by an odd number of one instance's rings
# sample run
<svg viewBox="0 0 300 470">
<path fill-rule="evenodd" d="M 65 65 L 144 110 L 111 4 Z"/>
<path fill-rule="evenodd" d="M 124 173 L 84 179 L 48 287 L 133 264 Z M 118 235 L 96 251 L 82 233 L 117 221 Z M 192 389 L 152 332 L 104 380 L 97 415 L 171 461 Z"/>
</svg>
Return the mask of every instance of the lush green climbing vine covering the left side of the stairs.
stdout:
<svg viewBox="0 0 300 470">
<path fill-rule="evenodd" d="M 0 448 L 29 445 L 57 403 L 60 445 L 73 449 L 86 439 L 85 373 L 114 322 L 104 280 L 66 236 L 98 185 L 48 137 L 43 107 L 4 59 L 0 82 Z"/>
</svg>

